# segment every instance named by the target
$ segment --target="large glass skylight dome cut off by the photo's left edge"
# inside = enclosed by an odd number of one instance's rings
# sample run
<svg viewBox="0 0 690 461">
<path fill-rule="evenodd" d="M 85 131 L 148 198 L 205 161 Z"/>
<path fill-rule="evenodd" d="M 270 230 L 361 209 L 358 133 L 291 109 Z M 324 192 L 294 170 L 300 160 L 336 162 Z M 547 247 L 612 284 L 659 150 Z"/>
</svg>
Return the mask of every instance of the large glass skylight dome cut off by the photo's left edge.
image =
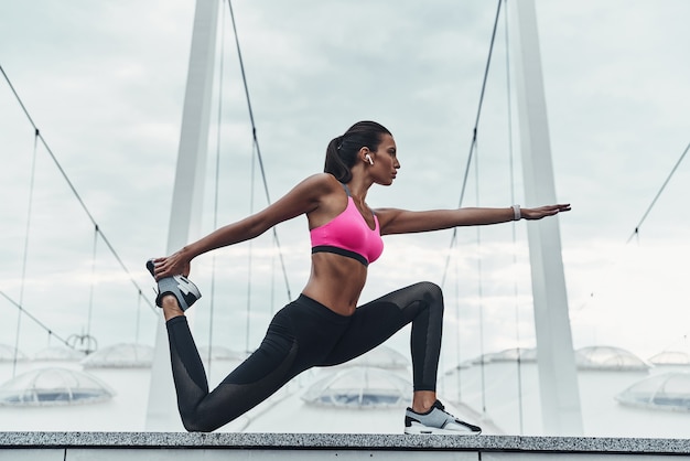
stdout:
<svg viewBox="0 0 690 461">
<path fill-rule="evenodd" d="M 33 369 L 0 386 L 0 405 L 58 406 L 108 400 L 114 392 L 95 377 L 66 368 Z"/>
</svg>

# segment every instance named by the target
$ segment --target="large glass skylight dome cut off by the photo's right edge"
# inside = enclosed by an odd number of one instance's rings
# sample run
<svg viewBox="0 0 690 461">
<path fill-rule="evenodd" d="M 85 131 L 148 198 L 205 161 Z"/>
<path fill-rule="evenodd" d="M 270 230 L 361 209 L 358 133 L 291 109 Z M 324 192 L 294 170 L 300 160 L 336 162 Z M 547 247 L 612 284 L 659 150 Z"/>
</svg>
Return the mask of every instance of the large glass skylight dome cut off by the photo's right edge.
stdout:
<svg viewBox="0 0 690 461">
<path fill-rule="evenodd" d="M 690 373 L 665 373 L 635 383 L 616 396 L 621 404 L 690 411 Z"/>
</svg>

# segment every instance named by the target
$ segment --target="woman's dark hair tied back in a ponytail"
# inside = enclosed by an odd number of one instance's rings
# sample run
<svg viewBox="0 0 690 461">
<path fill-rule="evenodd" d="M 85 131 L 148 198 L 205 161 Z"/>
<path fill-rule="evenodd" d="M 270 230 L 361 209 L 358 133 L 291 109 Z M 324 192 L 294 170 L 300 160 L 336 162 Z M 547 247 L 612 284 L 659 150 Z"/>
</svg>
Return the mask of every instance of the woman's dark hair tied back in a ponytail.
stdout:
<svg viewBox="0 0 690 461">
<path fill-rule="evenodd" d="M 359 149 L 367 147 L 376 152 L 381 143 L 381 135 L 390 135 L 390 131 L 376 121 L 356 122 L 345 135 L 328 142 L 323 171 L 333 174 L 342 183 L 349 182 L 353 178 L 349 170 L 357 162 Z"/>
</svg>

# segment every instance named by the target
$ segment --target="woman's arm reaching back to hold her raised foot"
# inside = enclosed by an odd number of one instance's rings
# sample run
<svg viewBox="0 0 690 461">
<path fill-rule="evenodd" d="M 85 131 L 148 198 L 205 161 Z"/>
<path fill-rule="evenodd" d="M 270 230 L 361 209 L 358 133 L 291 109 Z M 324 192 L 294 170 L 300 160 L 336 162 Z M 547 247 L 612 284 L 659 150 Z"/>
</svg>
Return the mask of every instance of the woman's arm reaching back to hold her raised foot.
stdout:
<svg viewBox="0 0 690 461">
<path fill-rule="evenodd" d="M 314 174 L 262 211 L 223 226 L 205 237 L 186 245 L 166 258 L 155 259 L 155 278 L 190 274 L 192 259 L 216 248 L 249 240 L 274 225 L 315 210 L 321 197 L 332 189 L 332 181 L 324 174 Z"/>
</svg>

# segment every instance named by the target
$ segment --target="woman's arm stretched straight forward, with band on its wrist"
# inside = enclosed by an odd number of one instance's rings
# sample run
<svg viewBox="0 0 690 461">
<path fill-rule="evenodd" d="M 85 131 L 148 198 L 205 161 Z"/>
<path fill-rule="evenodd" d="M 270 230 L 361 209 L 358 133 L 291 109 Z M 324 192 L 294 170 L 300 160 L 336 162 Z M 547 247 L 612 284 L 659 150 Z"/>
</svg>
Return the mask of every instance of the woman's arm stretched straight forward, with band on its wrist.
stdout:
<svg viewBox="0 0 690 461">
<path fill-rule="evenodd" d="M 520 218 L 541 219 L 553 216 L 561 212 L 570 211 L 570 204 L 547 205 L 537 208 L 520 208 Z M 456 226 L 477 226 L 498 224 L 515 221 L 513 207 L 506 208 L 459 208 L 459 210 L 431 210 L 424 212 L 410 212 L 398 208 L 378 208 L 381 235 L 411 234 L 448 229 Z"/>
</svg>

